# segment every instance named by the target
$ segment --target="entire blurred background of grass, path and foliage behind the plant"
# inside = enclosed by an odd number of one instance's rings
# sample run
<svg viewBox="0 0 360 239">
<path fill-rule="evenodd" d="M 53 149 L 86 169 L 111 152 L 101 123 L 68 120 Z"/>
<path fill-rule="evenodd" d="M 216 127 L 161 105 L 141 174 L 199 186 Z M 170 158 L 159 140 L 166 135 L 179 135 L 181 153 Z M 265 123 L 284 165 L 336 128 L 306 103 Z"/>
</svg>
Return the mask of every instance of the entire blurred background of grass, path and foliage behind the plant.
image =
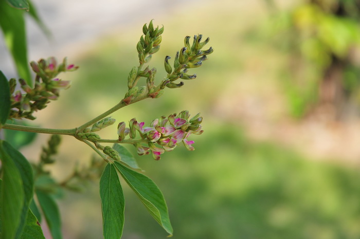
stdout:
<svg viewBox="0 0 360 239">
<path fill-rule="evenodd" d="M 154 19 L 165 31 L 151 67 L 165 75 L 186 35 L 210 37 L 214 52 L 196 80 L 113 114 L 150 122 L 188 109 L 201 112 L 194 152 L 178 147 L 160 161 L 138 157 L 163 191 L 173 238 L 360 238 L 360 2 L 33 1 L 52 33 L 29 20 L 29 59 L 68 57 L 72 86 L 33 124 L 72 128 L 122 99 L 138 65 L 136 43 Z M 0 41 L 0 64 L 15 77 Z M 3 67 L 4 66 L 4 67 Z M 101 131 L 116 138 L 116 124 Z M 48 136 L 23 153 L 38 160 Z M 135 149 L 129 148 L 135 155 Z M 63 137 L 59 180 L 93 151 Z M 165 238 L 124 183 L 124 239 Z M 65 238 L 102 238 L 98 182 L 60 201 Z"/>
</svg>

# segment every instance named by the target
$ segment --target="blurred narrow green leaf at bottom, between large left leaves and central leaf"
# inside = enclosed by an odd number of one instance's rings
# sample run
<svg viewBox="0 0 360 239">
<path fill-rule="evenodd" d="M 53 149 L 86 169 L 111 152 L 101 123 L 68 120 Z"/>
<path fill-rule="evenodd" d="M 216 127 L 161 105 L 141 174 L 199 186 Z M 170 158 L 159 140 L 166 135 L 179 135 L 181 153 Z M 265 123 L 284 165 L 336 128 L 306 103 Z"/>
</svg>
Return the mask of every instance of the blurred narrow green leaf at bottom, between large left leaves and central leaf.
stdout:
<svg viewBox="0 0 360 239">
<path fill-rule="evenodd" d="M 36 195 L 38 196 L 38 201 L 45 215 L 46 223 L 50 229 L 52 238 L 61 239 L 61 220 L 58 205 L 47 193 L 37 190 Z"/>
</svg>

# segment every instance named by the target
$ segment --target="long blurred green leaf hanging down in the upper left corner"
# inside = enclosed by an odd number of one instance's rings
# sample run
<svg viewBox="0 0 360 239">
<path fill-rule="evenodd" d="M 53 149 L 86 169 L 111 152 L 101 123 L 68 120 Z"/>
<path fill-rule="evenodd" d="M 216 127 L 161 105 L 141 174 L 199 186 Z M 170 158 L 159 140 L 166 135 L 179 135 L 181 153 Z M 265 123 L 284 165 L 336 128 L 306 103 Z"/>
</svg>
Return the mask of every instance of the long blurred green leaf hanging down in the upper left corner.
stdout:
<svg viewBox="0 0 360 239">
<path fill-rule="evenodd" d="M 29 86 L 32 86 L 27 58 L 24 11 L 10 7 L 6 1 L 0 1 L 0 27 L 5 43 L 15 62 L 17 73 Z"/>
</svg>

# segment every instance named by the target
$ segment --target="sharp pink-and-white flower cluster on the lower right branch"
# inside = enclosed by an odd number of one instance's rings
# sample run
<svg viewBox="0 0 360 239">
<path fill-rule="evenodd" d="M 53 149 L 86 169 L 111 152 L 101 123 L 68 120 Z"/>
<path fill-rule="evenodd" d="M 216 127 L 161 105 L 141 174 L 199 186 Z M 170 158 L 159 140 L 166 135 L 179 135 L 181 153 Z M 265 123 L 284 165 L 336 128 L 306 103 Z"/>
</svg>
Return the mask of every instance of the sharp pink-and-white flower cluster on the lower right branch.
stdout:
<svg viewBox="0 0 360 239">
<path fill-rule="evenodd" d="M 169 117 L 162 116 L 155 119 L 149 127 L 144 127 L 145 123 L 138 123 L 136 119 L 131 119 L 129 128 L 125 122 L 118 125 L 119 141 L 129 136 L 134 139 L 134 146 L 139 155 L 152 154 L 155 160 L 160 159 L 160 155 L 165 151 L 172 151 L 178 144 L 183 143 L 187 150 L 192 151 L 194 141 L 187 138 L 191 134 L 200 135 L 203 133 L 201 122 L 203 118 L 200 114 L 190 118 L 188 111 L 182 111 L 178 115 L 173 114 Z M 136 134 L 139 133 L 141 140 L 136 140 Z M 147 143 L 147 145 L 143 145 Z"/>
</svg>

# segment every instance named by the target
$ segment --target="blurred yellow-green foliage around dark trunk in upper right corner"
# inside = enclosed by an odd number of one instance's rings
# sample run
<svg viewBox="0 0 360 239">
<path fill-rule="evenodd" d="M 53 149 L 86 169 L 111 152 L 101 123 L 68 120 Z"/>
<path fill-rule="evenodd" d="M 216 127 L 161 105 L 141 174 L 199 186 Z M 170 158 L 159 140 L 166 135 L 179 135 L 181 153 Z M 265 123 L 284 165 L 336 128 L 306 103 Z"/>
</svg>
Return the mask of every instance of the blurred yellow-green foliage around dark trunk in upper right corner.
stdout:
<svg viewBox="0 0 360 239">
<path fill-rule="evenodd" d="M 335 107 L 336 101 L 358 104 L 360 78 L 355 76 L 360 66 L 355 55 L 360 46 L 360 2 L 309 0 L 287 10 L 276 9 L 274 1 L 267 3 L 272 9 L 267 31 L 289 54 L 282 79 L 293 115 L 301 117 L 322 102 Z M 323 92 L 331 91 L 329 87 L 336 92 Z"/>
</svg>

